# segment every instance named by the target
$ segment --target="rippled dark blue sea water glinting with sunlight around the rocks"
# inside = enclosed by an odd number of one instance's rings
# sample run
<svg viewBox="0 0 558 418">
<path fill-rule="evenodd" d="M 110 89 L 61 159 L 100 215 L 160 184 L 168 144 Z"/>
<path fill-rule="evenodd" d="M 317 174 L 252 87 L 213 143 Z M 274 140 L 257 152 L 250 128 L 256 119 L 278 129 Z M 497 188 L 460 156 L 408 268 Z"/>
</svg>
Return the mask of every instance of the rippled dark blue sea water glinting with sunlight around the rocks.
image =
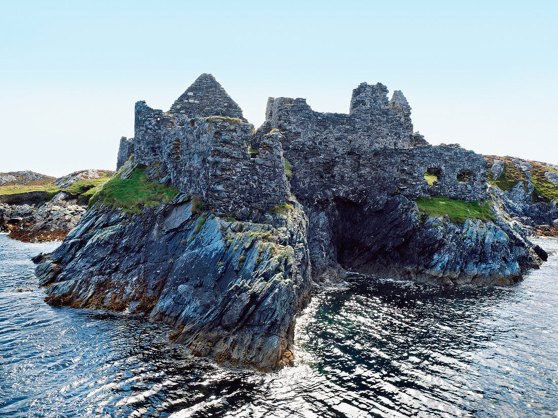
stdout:
<svg viewBox="0 0 558 418">
<path fill-rule="evenodd" d="M 512 289 L 354 276 L 266 375 L 192 358 L 165 325 L 49 307 L 29 257 L 55 247 L 0 235 L 2 417 L 558 417 L 558 256 Z"/>
</svg>

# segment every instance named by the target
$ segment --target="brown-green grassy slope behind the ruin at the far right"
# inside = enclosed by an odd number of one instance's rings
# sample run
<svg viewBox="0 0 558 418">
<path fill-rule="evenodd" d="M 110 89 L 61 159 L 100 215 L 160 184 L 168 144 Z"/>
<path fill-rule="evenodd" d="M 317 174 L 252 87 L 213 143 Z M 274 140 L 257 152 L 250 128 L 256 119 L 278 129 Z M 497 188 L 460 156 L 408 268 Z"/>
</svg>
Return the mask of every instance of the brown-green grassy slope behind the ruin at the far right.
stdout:
<svg viewBox="0 0 558 418">
<path fill-rule="evenodd" d="M 516 163 L 512 161 L 512 157 L 485 155 L 484 158 L 487 160 L 489 167 L 492 166 L 493 159 L 499 159 L 504 162 L 504 171 L 498 179 L 493 180 L 492 173 L 490 171 L 488 172 L 488 181 L 493 186 L 498 186 L 502 190 L 509 192 L 518 182 L 526 182 L 523 172 L 516 168 Z M 537 161 L 527 162 L 533 166 L 533 169 L 530 170 L 531 183 L 533 183 L 533 186 L 535 187 L 535 190 L 533 191 L 533 200 L 538 200 L 538 196 L 542 196 L 546 200 L 558 199 L 558 186 L 549 182 L 545 177 L 545 173 L 547 171 L 554 171 L 557 174 L 558 171 Z"/>
</svg>

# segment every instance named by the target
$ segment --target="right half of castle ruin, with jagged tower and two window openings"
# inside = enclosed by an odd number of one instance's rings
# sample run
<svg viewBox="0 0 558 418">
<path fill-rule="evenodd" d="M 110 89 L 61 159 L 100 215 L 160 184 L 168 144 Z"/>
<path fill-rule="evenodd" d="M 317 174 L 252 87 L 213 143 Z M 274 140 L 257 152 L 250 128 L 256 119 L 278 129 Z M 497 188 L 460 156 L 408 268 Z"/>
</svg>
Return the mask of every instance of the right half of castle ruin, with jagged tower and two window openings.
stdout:
<svg viewBox="0 0 558 418">
<path fill-rule="evenodd" d="M 387 100 L 382 84 L 353 90 L 349 114 L 319 113 L 305 99 L 270 98 L 267 132 L 282 135 L 292 164 L 291 187 L 308 203 L 330 197 L 359 202 L 370 193 L 445 195 L 463 200 L 486 197 L 487 167 L 481 155 L 458 146 L 427 144 L 413 133 L 411 108 L 401 91 Z M 429 186 L 424 174 L 438 174 Z"/>
</svg>

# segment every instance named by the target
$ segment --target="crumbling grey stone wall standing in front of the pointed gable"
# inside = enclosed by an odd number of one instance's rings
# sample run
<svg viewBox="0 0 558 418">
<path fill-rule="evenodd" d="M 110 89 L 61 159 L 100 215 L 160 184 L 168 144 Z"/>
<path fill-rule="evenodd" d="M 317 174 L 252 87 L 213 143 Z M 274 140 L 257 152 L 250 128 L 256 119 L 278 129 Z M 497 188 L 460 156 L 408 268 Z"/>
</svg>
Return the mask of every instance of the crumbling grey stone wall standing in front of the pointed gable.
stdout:
<svg viewBox="0 0 558 418">
<path fill-rule="evenodd" d="M 257 158 L 248 153 L 253 136 L 238 118 L 175 119 L 136 104 L 135 161 L 165 164 L 173 186 L 220 213 L 266 211 L 290 197 L 279 135 L 262 139 Z"/>
</svg>

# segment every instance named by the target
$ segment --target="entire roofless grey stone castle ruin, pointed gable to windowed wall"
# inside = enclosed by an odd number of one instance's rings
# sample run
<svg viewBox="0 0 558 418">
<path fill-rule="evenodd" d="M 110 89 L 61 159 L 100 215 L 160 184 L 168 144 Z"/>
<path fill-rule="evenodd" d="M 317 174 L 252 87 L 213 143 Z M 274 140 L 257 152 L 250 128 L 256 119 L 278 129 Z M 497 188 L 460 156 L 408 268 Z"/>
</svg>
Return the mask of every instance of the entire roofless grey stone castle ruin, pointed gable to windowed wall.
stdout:
<svg viewBox="0 0 558 418">
<path fill-rule="evenodd" d="M 144 166 L 163 164 L 173 186 L 218 213 L 266 211 L 287 201 L 291 189 L 306 203 L 360 202 L 378 191 L 411 200 L 486 198 L 482 155 L 428 144 L 413 132 L 401 91 L 391 100 L 387 93 L 381 83 L 360 84 L 348 114 L 316 112 L 305 99 L 269 98 L 256 131 L 215 78 L 202 74 L 167 112 L 136 103 L 134 138 L 121 139 L 118 168 L 132 154 Z M 293 167 L 290 181 L 283 157 Z"/>
</svg>

